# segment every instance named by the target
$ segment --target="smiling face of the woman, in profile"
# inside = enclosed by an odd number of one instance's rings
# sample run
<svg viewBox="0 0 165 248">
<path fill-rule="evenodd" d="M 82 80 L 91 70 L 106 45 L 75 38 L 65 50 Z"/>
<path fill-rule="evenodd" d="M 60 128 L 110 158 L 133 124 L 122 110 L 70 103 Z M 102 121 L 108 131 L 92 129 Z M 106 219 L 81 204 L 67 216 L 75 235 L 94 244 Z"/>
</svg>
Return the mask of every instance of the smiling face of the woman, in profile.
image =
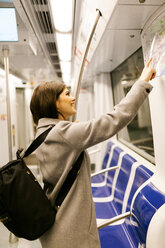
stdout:
<svg viewBox="0 0 165 248">
<path fill-rule="evenodd" d="M 59 112 L 59 119 L 68 119 L 69 116 L 76 114 L 75 98 L 70 95 L 70 91 L 65 88 L 56 101 L 56 107 Z M 62 114 L 62 115 L 60 115 Z"/>
</svg>

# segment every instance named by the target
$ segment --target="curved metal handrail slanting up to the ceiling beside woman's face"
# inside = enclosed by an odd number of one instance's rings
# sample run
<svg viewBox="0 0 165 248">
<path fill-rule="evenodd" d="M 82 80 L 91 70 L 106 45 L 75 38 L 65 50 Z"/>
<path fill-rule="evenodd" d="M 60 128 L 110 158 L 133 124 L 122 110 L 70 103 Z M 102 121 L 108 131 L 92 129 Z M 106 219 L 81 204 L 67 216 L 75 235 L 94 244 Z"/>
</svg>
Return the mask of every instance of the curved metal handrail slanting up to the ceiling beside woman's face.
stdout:
<svg viewBox="0 0 165 248">
<path fill-rule="evenodd" d="M 78 74 L 77 82 L 75 84 L 75 90 L 74 90 L 74 93 L 73 93 L 74 98 L 76 98 L 76 107 L 77 107 L 78 96 L 79 96 L 79 92 L 80 92 L 80 84 L 81 84 L 81 79 L 82 79 L 82 75 L 83 75 L 83 71 L 84 71 L 84 65 L 85 65 L 86 57 L 87 57 L 87 54 L 88 54 L 88 51 L 89 51 L 89 47 L 90 47 L 92 37 L 93 37 L 93 34 L 95 32 L 97 23 L 99 21 L 99 18 L 102 16 L 102 14 L 101 14 L 99 9 L 96 9 L 96 11 L 97 11 L 96 19 L 95 19 L 91 34 L 89 36 L 89 40 L 88 40 L 87 45 L 86 45 L 86 49 L 85 49 L 85 52 L 84 52 L 84 55 L 83 55 L 83 59 L 81 61 L 80 71 L 79 71 L 79 74 Z M 76 119 L 76 115 L 73 116 L 72 121 L 75 121 L 75 119 Z"/>
</svg>

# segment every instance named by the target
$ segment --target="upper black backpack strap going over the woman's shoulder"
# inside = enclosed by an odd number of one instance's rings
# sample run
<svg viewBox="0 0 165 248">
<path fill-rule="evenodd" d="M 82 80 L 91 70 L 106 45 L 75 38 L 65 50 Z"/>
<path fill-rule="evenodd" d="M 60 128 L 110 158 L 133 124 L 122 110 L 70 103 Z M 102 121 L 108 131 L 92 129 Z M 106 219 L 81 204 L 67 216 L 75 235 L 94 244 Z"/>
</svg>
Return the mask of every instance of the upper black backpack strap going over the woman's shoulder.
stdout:
<svg viewBox="0 0 165 248">
<path fill-rule="evenodd" d="M 26 149 L 24 155 L 22 158 L 25 158 L 27 156 L 29 156 L 32 152 L 34 152 L 46 139 L 48 133 L 50 132 L 50 130 L 53 128 L 54 126 L 49 127 L 46 131 L 44 131 L 43 133 L 41 133 L 35 140 L 33 140 L 33 142 L 31 143 L 31 145 Z"/>
</svg>

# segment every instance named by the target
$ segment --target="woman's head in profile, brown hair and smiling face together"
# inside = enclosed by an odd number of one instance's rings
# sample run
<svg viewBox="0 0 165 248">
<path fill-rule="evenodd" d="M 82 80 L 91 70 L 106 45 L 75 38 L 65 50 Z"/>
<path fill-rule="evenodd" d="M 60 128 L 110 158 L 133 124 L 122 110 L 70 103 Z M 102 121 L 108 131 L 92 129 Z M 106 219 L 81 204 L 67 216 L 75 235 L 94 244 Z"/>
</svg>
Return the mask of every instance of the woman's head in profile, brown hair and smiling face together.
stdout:
<svg viewBox="0 0 165 248">
<path fill-rule="evenodd" d="M 41 118 L 67 120 L 76 113 L 75 98 L 61 81 L 42 82 L 31 99 L 30 109 L 34 123 Z"/>
</svg>

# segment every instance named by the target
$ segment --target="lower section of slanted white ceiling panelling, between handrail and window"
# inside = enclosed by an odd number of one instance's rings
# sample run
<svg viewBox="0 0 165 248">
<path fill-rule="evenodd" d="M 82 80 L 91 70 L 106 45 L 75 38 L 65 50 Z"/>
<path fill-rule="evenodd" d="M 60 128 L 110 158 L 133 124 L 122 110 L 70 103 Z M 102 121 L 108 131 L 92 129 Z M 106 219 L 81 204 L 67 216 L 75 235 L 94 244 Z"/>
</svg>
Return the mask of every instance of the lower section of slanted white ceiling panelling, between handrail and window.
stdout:
<svg viewBox="0 0 165 248">
<path fill-rule="evenodd" d="M 112 71 L 140 46 L 140 30 L 107 30 L 86 75 Z"/>
</svg>

